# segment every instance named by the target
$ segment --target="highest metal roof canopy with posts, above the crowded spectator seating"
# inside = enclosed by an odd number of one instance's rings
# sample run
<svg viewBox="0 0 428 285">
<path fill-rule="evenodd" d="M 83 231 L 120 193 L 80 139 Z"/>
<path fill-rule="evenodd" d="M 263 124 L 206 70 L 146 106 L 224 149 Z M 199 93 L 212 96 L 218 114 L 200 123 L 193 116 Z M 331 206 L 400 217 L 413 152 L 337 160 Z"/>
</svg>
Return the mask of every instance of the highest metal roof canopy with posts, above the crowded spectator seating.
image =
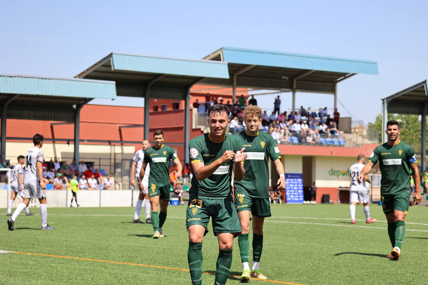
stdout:
<svg viewBox="0 0 428 285">
<path fill-rule="evenodd" d="M 204 59 L 227 62 L 231 78 L 206 78 L 201 84 L 232 87 L 233 100 L 236 88 L 291 91 L 293 110 L 297 91 L 334 94 L 336 108 L 338 82 L 357 73 L 378 74 L 374 61 L 235 47 L 222 47 Z"/>
</svg>

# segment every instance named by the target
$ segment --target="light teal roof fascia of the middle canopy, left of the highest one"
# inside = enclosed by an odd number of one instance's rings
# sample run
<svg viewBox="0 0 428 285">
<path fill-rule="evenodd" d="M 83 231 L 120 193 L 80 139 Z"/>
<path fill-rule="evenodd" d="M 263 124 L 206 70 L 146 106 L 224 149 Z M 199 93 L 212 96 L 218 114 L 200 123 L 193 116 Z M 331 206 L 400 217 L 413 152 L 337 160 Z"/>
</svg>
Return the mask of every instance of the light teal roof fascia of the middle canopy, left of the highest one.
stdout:
<svg viewBox="0 0 428 285">
<path fill-rule="evenodd" d="M 112 53 L 112 59 L 115 70 L 229 79 L 227 63 L 213 60 L 172 59 L 124 53 Z"/>
</svg>

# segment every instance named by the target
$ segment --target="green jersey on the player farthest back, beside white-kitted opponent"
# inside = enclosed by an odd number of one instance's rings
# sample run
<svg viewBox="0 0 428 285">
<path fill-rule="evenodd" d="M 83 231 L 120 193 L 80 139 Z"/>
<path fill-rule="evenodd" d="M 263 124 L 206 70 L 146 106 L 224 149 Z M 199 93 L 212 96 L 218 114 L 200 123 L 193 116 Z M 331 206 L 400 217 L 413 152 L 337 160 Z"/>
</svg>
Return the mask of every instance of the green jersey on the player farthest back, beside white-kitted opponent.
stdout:
<svg viewBox="0 0 428 285">
<path fill-rule="evenodd" d="M 170 159 L 178 159 L 175 150 L 167 145 L 161 148 L 150 147 L 144 153 L 144 162 L 150 164 L 149 184 L 169 184 Z"/>
</svg>

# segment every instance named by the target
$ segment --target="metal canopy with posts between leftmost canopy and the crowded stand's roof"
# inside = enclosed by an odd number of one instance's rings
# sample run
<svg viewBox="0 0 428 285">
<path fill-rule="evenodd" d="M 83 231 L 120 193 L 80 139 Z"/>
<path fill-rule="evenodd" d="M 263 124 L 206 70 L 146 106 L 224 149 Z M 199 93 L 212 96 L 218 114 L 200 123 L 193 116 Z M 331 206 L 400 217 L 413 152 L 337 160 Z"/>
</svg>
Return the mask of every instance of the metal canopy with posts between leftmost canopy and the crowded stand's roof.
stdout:
<svg viewBox="0 0 428 285">
<path fill-rule="evenodd" d="M 110 53 L 77 78 L 116 81 L 118 96 L 144 97 L 144 138 L 149 139 L 150 98 L 185 100 L 184 159 L 189 160 L 190 88 L 204 78 L 229 79 L 227 63 Z"/>
</svg>

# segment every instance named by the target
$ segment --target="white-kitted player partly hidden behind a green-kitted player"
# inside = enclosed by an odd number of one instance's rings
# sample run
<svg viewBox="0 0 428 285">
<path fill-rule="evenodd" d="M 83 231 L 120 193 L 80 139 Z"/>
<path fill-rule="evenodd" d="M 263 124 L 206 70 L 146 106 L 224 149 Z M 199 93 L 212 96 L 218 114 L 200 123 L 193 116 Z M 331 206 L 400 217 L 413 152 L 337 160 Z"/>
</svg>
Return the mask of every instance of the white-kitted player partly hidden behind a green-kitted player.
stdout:
<svg viewBox="0 0 428 285">
<path fill-rule="evenodd" d="M 144 153 L 149 147 L 152 146 L 152 143 L 149 140 L 143 141 L 143 149 L 138 150 L 134 154 L 131 165 L 131 185 L 135 186 L 135 180 L 139 180 L 141 166 L 143 165 Z M 138 188 L 140 190 L 140 196 L 138 196 L 137 203 L 135 205 L 134 220 L 133 223 L 142 223 L 138 216 L 141 212 L 141 207 L 144 203 L 144 210 L 146 211 L 146 223 L 152 223 L 150 218 L 150 201 L 149 201 L 149 174 L 150 174 L 150 165 L 147 165 L 146 171 L 144 171 L 144 177 L 142 180 L 143 185 Z"/>
</svg>

